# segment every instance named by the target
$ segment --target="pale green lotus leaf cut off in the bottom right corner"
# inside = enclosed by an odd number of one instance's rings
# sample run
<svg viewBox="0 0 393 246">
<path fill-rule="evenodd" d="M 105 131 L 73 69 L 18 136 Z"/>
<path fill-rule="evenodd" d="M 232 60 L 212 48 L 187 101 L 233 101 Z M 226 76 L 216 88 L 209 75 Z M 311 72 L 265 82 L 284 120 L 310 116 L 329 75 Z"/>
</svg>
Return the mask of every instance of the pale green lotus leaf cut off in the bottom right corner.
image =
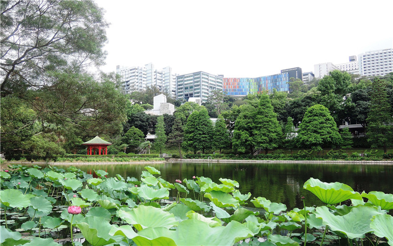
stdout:
<svg viewBox="0 0 393 246">
<path fill-rule="evenodd" d="M 392 215 L 374 215 L 371 218 L 370 228 L 380 238 L 388 239 L 388 244 L 393 246 L 393 217 Z"/>
</svg>

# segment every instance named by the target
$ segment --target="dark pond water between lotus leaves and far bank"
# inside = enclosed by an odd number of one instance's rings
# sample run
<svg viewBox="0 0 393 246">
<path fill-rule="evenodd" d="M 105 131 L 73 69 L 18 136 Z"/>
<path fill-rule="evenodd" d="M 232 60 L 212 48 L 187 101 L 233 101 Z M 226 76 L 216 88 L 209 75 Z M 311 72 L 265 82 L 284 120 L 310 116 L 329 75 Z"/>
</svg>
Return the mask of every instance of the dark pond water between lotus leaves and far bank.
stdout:
<svg viewBox="0 0 393 246">
<path fill-rule="evenodd" d="M 144 167 L 150 165 L 161 171 L 161 177 L 170 183 L 176 179 L 192 179 L 195 176 L 209 177 L 221 184 L 220 178 L 236 180 L 242 194 L 251 192 L 253 197 L 265 197 L 272 202 L 283 203 L 288 210 L 303 208 L 302 196 L 306 197 L 306 206 L 323 205 L 316 196 L 303 189 L 309 178 L 322 182 L 341 182 L 348 184 L 355 191 L 369 192 L 372 190 L 393 194 L 392 165 L 354 165 L 354 164 L 292 164 L 292 163 L 143 163 L 116 165 L 75 165 L 79 169 L 93 173 L 93 169 L 102 169 L 109 173 L 108 177 L 120 174 L 123 178 L 136 177 Z M 68 166 L 57 166 L 67 168 Z M 156 175 L 157 176 L 157 175 Z M 170 195 L 177 192 L 171 190 Z M 193 194 L 188 195 L 191 198 Z M 249 202 L 248 206 L 253 206 Z"/>
</svg>

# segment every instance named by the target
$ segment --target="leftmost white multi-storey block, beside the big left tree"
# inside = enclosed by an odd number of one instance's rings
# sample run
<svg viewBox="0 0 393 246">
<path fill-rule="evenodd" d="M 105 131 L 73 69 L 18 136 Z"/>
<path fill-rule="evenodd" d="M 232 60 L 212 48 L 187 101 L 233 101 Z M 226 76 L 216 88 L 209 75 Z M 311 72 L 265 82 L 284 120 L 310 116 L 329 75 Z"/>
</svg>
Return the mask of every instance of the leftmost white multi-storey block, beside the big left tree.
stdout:
<svg viewBox="0 0 393 246">
<path fill-rule="evenodd" d="M 146 90 L 145 67 L 121 67 L 116 66 L 116 73 L 121 76 L 125 93 L 140 92 Z"/>
</svg>

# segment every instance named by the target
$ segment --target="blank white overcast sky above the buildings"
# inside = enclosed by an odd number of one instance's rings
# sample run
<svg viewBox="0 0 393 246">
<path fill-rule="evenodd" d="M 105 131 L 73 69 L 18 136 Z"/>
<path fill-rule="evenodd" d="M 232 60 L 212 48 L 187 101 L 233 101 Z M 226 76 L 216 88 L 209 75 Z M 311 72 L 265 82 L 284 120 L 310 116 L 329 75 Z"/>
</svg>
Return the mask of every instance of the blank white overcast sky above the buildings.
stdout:
<svg viewBox="0 0 393 246">
<path fill-rule="evenodd" d="M 393 47 L 393 0 L 96 0 L 107 65 L 259 77 Z"/>
</svg>

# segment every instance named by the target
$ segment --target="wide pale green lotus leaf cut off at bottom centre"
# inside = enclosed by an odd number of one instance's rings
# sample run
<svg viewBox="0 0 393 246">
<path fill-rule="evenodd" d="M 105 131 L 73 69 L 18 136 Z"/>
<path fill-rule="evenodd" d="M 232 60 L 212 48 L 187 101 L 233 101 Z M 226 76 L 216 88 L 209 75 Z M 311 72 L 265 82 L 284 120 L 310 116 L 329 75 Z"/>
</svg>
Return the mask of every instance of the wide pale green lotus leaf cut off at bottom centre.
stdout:
<svg viewBox="0 0 393 246">
<path fill-rule="evenodd" d="M 253 237 L 253 232 L 237 221 L 231 221 L 226 226 L 210 227 L 208 223 L 201 220 L 187 219 L 180 222 L 176 230 L 146 228 L 141 230 L 138 235 L 151 239 L 170 238 L 176 245 L 210 246 L 234 245 L 240 240 Z M 137 238 L 133 240 L 137 240 Z"/>
</svg>

